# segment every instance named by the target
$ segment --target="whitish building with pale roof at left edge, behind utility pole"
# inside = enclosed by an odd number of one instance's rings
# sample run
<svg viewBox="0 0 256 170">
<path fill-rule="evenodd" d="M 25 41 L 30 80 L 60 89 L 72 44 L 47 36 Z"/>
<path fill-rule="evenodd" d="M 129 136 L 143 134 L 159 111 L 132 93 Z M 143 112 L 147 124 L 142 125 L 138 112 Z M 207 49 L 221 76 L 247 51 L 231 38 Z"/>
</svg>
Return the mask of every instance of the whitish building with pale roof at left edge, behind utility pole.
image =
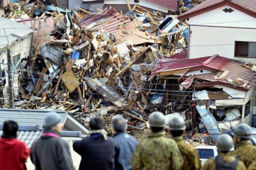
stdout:
<svg viewBox="0 0 256 170">
<path fill-rule="evenodd" d="M 21 60 L 30 54 L 31 38 L 33 30 L 16 21 L 0 17 L 0 81 L 4 84 L 4 98 L 7 98 L 8 76 L 7 76 L 7 46 L 11 46 L 13 58 L 13 87 L 14 94 L 18 93 L 18 73 L 21 69 Z M 4 75 L 4 76 L 3 76 Z M 2 77 L 3 76 L 3 77 Z M 5 103 L 7 101 L 5 100 Z"/>
</svg>

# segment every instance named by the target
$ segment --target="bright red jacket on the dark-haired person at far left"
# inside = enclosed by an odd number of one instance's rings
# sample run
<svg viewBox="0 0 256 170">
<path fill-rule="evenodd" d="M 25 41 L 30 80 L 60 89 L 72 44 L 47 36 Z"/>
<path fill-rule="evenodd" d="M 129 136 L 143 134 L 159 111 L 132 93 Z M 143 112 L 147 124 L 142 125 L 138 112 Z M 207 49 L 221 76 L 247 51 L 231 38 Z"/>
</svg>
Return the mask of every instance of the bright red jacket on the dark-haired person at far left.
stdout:
<svg viewBox="0 0 256 170">
<path fill-rule="evenodd" d="M 0 138 L 0 170 L 26 170 L 30 149 L 16 138 Z"/>
</svg>

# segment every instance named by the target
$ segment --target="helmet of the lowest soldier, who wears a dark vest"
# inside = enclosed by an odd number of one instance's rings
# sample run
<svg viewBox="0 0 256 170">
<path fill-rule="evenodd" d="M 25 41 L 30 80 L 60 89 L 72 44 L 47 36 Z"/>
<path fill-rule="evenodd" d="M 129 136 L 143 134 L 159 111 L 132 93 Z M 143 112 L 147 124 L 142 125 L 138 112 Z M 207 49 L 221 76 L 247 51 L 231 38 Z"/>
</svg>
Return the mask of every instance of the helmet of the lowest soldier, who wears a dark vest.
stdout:
<svg viewBox="0 0 256 170">
<path fill-rule="evenodd" d="M 234 140 L 230 135 L 223 134 L 218 138 L 216 146 L 220 151 L 230 151 L 234 148 Z"/>
</svg>

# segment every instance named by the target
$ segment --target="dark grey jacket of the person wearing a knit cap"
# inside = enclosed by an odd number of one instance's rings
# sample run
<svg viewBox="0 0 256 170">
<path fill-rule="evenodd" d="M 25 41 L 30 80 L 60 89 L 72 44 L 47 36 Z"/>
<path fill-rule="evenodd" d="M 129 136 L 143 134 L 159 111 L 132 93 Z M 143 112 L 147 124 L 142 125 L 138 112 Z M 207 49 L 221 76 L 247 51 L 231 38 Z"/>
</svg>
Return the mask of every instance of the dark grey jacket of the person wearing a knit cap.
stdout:
<svg viewBox="0 0 256 170">
<path fill-rule="evenodd" d="M 36 170 L 74 170 L 69 146 L 58 137 L 41 136 L 32 145 L 30 157 Z"/>
</svg>

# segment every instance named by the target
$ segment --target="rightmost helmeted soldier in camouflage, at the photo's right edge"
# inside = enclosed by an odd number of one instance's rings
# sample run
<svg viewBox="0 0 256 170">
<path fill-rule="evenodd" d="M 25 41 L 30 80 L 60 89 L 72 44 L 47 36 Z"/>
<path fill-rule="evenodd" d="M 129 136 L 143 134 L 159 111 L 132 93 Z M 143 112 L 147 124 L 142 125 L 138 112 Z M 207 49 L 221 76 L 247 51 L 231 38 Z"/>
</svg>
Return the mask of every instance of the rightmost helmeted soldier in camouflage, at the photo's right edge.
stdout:
<svg viewBox="0 0 256 170">
<path fill-rule="evenodd" d="M 256 161 L 256 146 L 248 142 L 252 137 L 251 127 L 244 123 L 238 124 L 234 128 L 233 136 L 236 149 L 232 154 L 243 161 L 248 168 L 253 161 Z"/>
</svg>

